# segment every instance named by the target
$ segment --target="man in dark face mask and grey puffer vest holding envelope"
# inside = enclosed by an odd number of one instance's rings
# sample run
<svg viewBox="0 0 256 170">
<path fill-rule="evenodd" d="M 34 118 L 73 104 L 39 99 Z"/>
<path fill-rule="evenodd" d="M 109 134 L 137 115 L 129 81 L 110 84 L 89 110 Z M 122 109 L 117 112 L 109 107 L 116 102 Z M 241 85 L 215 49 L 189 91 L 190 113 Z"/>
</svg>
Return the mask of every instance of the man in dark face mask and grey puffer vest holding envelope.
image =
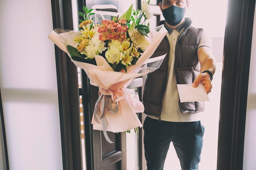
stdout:
<svg viewBox="0 0 256 170">
<path fill-rule="evenodd" d="M 182 170 L 198 170 L 204 126 L 203 102 L 180 103 L 177 84 L 199 83 L 207 94 L 215 72 L 211 38 L 184 18 L 189 0 L 159 0 L 168 33 L 155 56 L 167 53 L 162 65 L 150 73 L 144 87 L 144 148 L 148 170 L 163 170 L 171 141 Z M 169 170 L 169 169 L 168 169 Z M 171 167 L 170 167 L 171 170 Z"/>
</svg>

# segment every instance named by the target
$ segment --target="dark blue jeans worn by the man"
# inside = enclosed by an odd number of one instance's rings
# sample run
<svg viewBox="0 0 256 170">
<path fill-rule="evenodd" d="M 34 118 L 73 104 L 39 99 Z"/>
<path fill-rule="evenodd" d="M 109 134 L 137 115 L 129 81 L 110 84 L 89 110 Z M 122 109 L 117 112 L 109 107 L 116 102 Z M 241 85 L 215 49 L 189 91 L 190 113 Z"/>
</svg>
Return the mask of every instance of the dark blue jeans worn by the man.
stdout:
<svg viewBox="0 0 256 170">
<path fill-rule="evenodd" d="M 204 135 L 200 121 L 168 122 L 146 117 L 143 128 L 147 170 L 164 169 L 171 141 L 182 170 L 198 170 Z"/>
</svg>

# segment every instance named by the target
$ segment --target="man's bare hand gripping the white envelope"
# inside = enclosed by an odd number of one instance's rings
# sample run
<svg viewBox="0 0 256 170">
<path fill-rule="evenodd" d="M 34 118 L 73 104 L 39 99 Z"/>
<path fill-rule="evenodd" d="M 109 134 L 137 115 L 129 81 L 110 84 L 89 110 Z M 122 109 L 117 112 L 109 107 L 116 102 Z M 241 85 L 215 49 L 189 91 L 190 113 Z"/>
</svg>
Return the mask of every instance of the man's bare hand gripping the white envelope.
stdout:
<svg viewBox="0 0 256 170">
<path fill-rule="evenodd" d="M 210 75 L 208 73 L 200 73 L 196 78 L 195 81 L 193 82 L 192 86 L 197 87 L 198 84 L 202 83 L 204 85 L 206 93 L 210 93 L 212 89 L 211 85 L 211 79 Z"/>
</svg>

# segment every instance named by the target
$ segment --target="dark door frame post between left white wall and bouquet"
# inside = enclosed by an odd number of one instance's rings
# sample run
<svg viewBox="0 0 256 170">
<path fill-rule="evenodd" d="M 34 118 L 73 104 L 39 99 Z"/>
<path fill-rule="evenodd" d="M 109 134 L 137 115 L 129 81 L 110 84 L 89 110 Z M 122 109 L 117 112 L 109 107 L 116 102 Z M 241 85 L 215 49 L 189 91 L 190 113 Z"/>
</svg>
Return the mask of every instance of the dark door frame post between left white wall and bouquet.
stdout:
<svg viewBox="0 0 256 170">
<path fill-rule="evenodd" d="M 72 0 L 51 0 L 53 29 L 73 30 Z M 80 100 L 77 67 L 55 45 L 63 170 L 81 170 Z"/>
</svg>

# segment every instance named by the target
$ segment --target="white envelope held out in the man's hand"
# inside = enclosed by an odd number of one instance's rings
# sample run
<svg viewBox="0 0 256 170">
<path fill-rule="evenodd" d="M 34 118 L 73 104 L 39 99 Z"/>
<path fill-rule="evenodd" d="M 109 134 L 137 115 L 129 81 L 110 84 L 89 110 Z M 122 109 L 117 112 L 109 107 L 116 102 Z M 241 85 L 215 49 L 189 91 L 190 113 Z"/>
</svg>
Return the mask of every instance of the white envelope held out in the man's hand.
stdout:
<svg viewBox="0 0 256 170">
<path fill-rule="evenodd" d="M 204 86 L 192 87 L 192 84 L 177 84 L 180 102 L 201 102 L 210 101 Z"/>
</svg>

